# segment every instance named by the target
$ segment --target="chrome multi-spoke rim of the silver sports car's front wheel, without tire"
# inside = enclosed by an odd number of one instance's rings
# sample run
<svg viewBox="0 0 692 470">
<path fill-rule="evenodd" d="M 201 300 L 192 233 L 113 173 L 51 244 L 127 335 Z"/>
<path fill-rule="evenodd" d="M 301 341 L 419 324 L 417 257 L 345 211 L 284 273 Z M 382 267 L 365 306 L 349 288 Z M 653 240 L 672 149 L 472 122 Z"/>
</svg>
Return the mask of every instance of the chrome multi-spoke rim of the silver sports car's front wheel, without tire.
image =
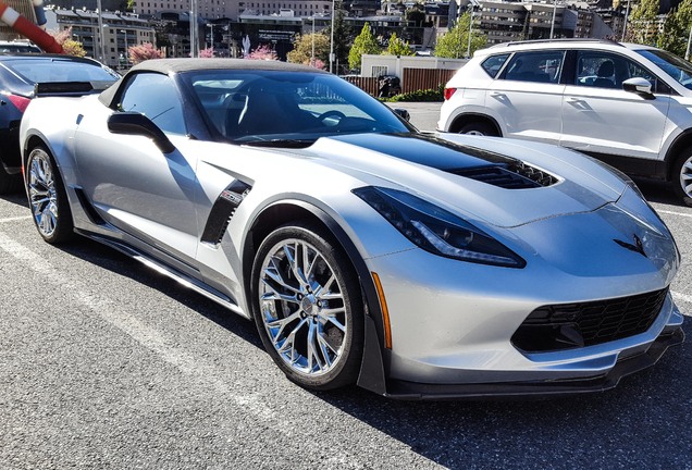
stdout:
<svg viewBox="0 0 692 470">
<path fill-rule="evenodd" d="M 294 372 L 317 378 L 347 356 L 344 288 L 326 257 L 305 240 L 284 239 L 264 257 L 258 289 L 261 321 Z"/>
</svg>

